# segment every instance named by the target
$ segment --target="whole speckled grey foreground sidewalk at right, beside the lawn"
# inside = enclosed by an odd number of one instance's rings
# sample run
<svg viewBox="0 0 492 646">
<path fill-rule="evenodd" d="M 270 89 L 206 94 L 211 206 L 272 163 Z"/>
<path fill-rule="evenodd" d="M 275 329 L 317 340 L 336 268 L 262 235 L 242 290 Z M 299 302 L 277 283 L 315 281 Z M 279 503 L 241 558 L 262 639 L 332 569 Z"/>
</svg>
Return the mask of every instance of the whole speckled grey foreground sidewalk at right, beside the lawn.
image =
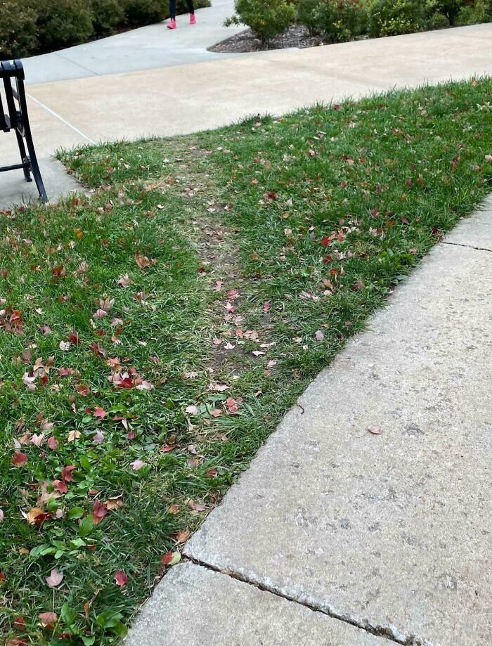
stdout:
<svg viewBox="0 0 492 646">
<path fill-rule="evenodd" d="M 125 646 L 491 644 L 491 278 L 489 200 L 313 381 Z"/>
</svg>

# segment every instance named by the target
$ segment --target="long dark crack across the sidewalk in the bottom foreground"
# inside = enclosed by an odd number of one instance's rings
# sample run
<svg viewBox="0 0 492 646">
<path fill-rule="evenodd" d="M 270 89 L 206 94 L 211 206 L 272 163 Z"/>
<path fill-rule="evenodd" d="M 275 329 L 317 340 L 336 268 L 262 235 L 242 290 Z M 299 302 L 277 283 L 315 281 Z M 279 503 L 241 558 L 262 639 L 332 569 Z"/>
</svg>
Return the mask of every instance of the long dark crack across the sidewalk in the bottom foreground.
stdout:
<svg viewBox="0 0 492 646">
<path fill-rule="evenodd" d="M 325 614 L 326 616 L 331 617 L 331 619 L 344 621 L 345 624 L 350 624 L 355 628 L 360 628 L 361 630 L 366 631 L 367 633 L 371 633 L 376 637 L 387 639 L 396 644 L 400 644 L 401 646 L 441 646 L 437 643 L 429 642 L 428 640 L 421 638 L 417 635 L 413 635 L 412 633 L 401 633 L 400 631 L 398 631 L 396 626 L 390 626 L 388 624 L 387 625 L 372 624 L 368 619 L 363 619 L 363 620 L 356 619 L 355 617 L 352 617 L 349 614 L 343 614 L 342 612 L 337 611 L 336 609 L 332 608 L 328 604 L 316 603 L 314 601 L 311 602 L 309 600 L 299 600 L 293 595 L 289 595 L 283 592 L 283 590 L 279 590 L 274 586 L 269 586 L 267 583 L 254 581 L 253 579 L 250 579 L 247 576 L 240 574 L 239 572 L 235 572 L 230 569 L 221 569 L 220 567 L 214 566 L 205 561 L 202 561 L 195 557 L 190 557 L 188 555 L 184 555 L 184 558 L 194 563 L 195 565 L 205 567 L 211 571 L 217 572 L 218 574 L 224 574 L 225 576 L 230 576 L 231 579 L 237 579 L 238 581 L 242 581 L 242 583 L 247 583 L 250 586 L 254 586 L 255 588 L 258 588 L 263 592 L 268 592 L 272 595 L 276 595 L 276 597 L 285 599 L 286 601 L 296 603 L 297 605 L 302 605 L 308 608 L 309 610 L 311 610 L 312 612 L 321 612 L 321 614 Z"/>
</svg>

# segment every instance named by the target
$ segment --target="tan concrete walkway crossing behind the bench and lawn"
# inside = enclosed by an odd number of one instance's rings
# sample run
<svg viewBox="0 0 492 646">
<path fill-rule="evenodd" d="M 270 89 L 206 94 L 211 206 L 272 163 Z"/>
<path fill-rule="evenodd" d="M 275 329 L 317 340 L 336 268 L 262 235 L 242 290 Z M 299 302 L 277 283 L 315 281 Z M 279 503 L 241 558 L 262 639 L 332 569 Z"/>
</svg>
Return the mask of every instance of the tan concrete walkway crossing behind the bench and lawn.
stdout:
<svg viewBox="0 0 492 646">
<path fill-rule="evenodd" d="M 44 167 L 60 147 L 185 134 L 247 115 L 474 74 L 492 74 L 492 23 L 35 84 L 28 92 Z M 0 164 L 15 160 L 15 138 L 2 143 Z M 0 177 L 3 203 L 25 190 L 22 174 L 13 176 L 8 186 Z M 63 192 L 63 182 L 58 188 Z"/>
</svg>

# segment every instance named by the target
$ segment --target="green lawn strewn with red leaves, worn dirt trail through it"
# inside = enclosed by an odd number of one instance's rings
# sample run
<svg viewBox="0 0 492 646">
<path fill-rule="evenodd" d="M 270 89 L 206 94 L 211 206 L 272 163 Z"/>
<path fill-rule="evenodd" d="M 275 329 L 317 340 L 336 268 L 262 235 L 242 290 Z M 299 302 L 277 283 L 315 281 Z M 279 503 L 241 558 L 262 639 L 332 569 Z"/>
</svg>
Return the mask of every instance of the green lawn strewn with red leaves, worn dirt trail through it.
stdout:
<svg viewBox="0 0 492 646">
<path fill-rule="evenodd" d="M 309 380 L 488 193 L 491 101 L 474 79 L 84 148 L 61 157 L 90 198 L 1 213 L 2 640 L 124 635 Z"/>
</svg>

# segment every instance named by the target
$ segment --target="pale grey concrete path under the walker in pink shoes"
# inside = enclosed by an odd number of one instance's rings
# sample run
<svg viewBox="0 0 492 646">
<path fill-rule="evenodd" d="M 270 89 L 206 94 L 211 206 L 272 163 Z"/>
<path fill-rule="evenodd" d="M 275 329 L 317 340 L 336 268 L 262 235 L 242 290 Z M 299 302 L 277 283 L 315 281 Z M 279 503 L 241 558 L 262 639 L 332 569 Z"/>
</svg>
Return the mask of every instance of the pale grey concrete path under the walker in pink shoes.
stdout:
<svg viewBox="0 0 492 646">
<path fill-rule="evenodd" d="M 198 9 L 198 24 L 188 24 L 188 16 L 178 16 L 178 29 L 170 32 L 166 23 L 116 34 L 63 51 L 33 56 L 24 60 L 29 84 L 61 81 L 151 70 L 201 63 L 204 60 L 237 58 L 238 54 L 217 54 L 207 48 L 245 29 L 224 27 L 224 20 L 234 13 L 233 0 L 214 0 L 213 6 Z"/>
</svg>

